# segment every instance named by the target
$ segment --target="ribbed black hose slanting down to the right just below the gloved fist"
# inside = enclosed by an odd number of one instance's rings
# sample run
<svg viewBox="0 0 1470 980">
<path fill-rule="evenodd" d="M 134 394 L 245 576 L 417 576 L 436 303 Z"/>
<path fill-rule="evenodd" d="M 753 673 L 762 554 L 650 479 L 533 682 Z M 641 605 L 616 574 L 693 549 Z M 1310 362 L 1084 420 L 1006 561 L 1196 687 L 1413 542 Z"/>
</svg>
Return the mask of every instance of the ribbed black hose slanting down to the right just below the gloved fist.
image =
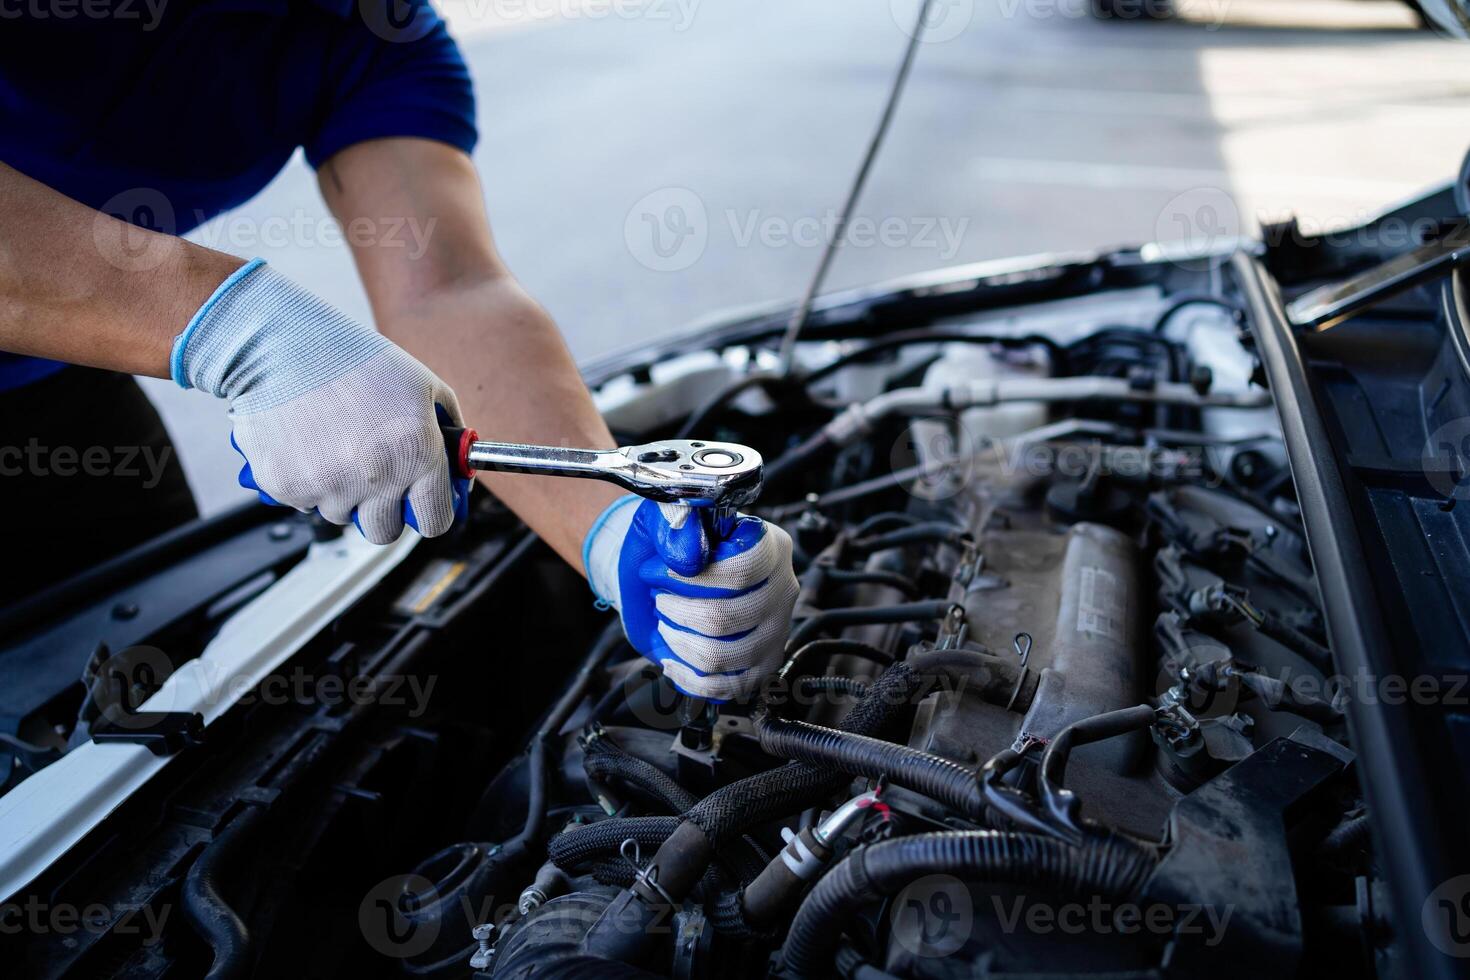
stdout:
<svg viewBox="0 0 1470 980">
<path fill-rule="evenodd" d="M 939 755 L 866 735 L 788 721 L 769 711 L 756 716 L 756 736 L 770 755 L 878 779 L 923 793 L 970 820 L 985 817 L 985 796 L 975 770 Z"/>
</svg>

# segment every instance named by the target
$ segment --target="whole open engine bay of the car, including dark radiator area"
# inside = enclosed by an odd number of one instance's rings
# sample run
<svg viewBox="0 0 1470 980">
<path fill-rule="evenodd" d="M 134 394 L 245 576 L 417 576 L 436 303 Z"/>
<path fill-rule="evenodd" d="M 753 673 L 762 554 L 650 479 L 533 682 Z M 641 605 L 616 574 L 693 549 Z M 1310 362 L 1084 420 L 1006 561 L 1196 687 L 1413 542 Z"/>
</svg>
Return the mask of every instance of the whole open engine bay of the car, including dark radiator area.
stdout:
<svg viewBox="0 0 1470 980">
<path fill-rule="evenodd" d="M 625 442 L 764 455 L 801 595 L 756 696 L 681 696 L 481 495 L 31 892 L 106 923 L 0 939 L 37 976 L 1380 971 L 1245 304 L 1219 263 L 1036 292 L 1067 275 L 819 322 L 794 378 L 714 338 L 595 383 Z"/>
</svg>

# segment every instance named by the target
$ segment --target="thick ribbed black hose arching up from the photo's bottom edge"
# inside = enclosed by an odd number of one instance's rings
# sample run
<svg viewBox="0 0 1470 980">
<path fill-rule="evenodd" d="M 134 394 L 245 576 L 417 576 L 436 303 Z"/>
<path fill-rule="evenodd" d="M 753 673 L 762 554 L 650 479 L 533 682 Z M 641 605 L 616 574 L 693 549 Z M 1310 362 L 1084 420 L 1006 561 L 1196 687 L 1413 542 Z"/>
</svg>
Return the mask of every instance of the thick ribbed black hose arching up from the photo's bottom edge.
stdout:
<svg viewBox="0 0 1470 980">
<path fill-rule="evenodd" d="M 831 974 L 847 918 L 925 874 L 1127 902 L 1138 896 L 1155 864 L 1152 852 L 1114 836 L 1088 837 L 1072 846 L 1036 835 L 973 830 L 872 843 L 838 862 L 801 902 L 782 946 L 781 967 L 791 977 Z"/>
</svg>

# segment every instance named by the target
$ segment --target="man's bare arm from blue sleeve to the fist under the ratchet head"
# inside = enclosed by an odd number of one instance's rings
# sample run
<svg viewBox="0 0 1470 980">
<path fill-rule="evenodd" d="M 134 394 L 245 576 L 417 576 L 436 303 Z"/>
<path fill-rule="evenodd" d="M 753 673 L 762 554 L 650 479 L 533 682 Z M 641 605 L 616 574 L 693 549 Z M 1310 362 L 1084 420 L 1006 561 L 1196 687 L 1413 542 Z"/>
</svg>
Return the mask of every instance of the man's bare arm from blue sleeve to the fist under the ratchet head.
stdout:
<svg viewBox="0 0 1470 980">
<path fill-rule="evenodd" d="M 495 253 L 465 153 L 426 140 L 360 143 L 328 160 L 318 181 L 378 328 L 448 382 L 484 438 L 613 445 L 551 317 Z M 622 492 L 592 480 L 479 479 L 575 569 L 588 527 Z"/>
</svg>

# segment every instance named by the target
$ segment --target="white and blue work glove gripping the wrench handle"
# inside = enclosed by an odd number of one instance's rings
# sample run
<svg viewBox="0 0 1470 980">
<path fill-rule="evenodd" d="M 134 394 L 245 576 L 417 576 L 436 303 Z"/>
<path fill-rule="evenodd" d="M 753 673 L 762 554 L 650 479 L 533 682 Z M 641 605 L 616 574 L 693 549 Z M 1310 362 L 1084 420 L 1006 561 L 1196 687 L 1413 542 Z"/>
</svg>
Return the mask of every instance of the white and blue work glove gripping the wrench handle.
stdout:
<svg viewBox="0 0 1470 980">
<path fill-rule="evenodd" d="M 469 507 L 440 423 L 448 385 L 376 331 L 254 262 L 225 279 L 173 338 L 184 388 L 229 400 L 240 485 L 268 504 L 356 523 L 385 545 L 403 526 L 442 535 Z"/>
</svg>

